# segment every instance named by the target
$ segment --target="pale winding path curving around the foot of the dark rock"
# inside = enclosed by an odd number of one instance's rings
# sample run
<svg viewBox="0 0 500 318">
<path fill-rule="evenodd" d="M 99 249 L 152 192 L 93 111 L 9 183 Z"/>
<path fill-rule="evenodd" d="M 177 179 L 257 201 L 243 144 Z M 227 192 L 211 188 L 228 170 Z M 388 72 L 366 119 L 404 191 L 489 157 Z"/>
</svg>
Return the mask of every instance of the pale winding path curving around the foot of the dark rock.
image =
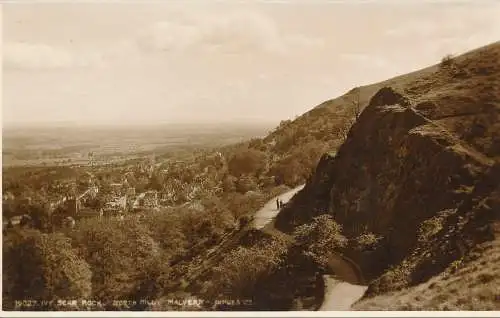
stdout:
<svg viewBox="0 0 500 318">
<path fill-rule="evenodd" d="M 266 203 L 254 216 L 253 227 L 262 231 L 277 232 L 274 218 L 279 213 L 276 199 L 287 203 L 304 185 L 285 192 Z M 281 232 L 280 232 L 281 233 Z M 345 311 L 358 301 L 368 286 L 364 285 L 363 275 L 359 267 L 346 257 L 332 253 L 328 262 L 335 275 L 324 275 L 325 297 L 320 311 Z"/>
</svg>

